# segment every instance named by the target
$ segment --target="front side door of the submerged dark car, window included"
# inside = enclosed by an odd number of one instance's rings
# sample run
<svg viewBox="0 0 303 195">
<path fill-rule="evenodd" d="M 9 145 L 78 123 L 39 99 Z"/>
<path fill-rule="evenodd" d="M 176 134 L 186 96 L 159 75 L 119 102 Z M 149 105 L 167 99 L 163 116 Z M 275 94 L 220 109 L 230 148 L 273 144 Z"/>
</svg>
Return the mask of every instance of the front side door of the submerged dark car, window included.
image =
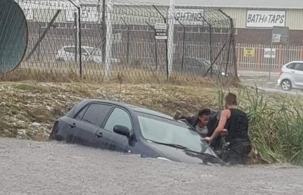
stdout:
<svg viewBox="0 0 303 195">
<path fill-rule="evenodd" d="M 108 116 L 106 122 L 102 125 L 102 128 L 99 128 L 95 133 L 93 138 L 94 147 L 130 153 L 131 140 L 126 136 L 115 133 L 113 131 L 115 125 L 125 126 L 129 128 L 130 133 L 133 132 L 130 113 L 123 108 L 115 107 Z"/>
</svg>

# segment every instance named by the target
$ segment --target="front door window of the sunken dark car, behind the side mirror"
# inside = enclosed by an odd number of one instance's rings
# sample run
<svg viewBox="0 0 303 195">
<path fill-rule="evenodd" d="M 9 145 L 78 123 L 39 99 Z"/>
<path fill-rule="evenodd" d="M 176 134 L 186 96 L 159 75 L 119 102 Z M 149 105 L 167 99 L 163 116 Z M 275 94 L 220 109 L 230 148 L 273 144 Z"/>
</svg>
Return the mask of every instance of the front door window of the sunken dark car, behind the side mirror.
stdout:
<svg viewBox="0 0 303 195">
<path fill-rule="evenodd" d="M 121 108 L 115 108 L 108 117 L 104 129 L 113 132 L 115 125 L 122 125 L 131 130 L 132 125 L 130 115 Z"/>
</svg>

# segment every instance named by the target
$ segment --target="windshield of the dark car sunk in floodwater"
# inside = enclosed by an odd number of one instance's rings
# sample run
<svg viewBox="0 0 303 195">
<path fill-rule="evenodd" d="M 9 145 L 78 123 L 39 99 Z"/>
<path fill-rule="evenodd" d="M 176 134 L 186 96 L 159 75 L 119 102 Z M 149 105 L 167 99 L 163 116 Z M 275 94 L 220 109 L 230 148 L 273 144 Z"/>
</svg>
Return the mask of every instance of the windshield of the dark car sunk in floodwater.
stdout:
<svg viewBox="0 0 303 195">
<path fill-rule="evenodd" d="M 198 153 L 216 156 L 211 147 L 201 141 L 200 135 L 184 123 L 143 113 L 138 113 L 138 119 L 142 135 L 147 140 L 181 145 Z"/>
</svg>

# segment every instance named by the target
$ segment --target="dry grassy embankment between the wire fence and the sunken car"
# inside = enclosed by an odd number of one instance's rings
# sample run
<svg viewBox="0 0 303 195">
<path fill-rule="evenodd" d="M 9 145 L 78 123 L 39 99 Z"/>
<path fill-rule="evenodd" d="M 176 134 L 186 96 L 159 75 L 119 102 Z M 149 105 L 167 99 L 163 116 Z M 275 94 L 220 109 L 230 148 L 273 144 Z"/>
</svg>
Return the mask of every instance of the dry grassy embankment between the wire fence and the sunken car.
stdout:
<svg viewBox="0 0 303 195">
<path fill-rule="evenodd" d="M 84 98 L 104 98 L 172 115 L 216 108 L 216 90 L 160 84 L 0 83 L 0 136 L 46 140 L 53 121 Z"/>
</svg>

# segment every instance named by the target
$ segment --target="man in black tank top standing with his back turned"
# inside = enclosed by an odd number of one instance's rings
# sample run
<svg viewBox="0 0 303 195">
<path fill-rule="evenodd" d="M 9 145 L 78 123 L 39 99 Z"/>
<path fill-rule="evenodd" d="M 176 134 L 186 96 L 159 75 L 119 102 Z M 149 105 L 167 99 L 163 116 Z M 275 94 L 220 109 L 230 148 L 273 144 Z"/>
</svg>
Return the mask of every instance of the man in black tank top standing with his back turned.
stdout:
<svg viewBox="0 0 303 195">
<path fill-rule="evenodd" d="M 246 113 L 237 108 L 237 105 L 237 95 L 227 94 L 226 109 L 221 112 L 215 132 L 211 137 L 204 138 L 212 142 L 224 129 L 227 130 L 223 160 L 229 164 L 244 164 L 245 157 L 250 151 L 248 118 Z"/>
</svg>

